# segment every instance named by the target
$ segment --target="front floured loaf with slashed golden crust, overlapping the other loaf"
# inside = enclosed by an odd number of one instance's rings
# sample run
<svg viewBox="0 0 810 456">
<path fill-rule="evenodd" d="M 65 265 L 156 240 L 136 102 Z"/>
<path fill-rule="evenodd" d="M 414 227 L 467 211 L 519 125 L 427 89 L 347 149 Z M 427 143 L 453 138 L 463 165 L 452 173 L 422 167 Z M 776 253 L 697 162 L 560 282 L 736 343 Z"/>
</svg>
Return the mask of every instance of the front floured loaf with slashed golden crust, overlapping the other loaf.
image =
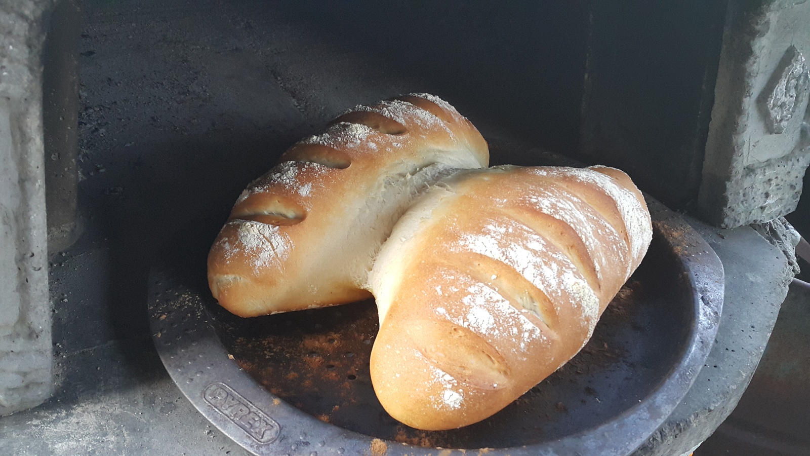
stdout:
<svg viewBox="0 0 810 456">
<path fill-rule="evenodd" d="M 428 430 L 500 411 L 585 346 L 651 236 L 620 170 L 500 166 L 444 179 L 399 219 L 369 275 L 377 398 Z"/>
</svg>

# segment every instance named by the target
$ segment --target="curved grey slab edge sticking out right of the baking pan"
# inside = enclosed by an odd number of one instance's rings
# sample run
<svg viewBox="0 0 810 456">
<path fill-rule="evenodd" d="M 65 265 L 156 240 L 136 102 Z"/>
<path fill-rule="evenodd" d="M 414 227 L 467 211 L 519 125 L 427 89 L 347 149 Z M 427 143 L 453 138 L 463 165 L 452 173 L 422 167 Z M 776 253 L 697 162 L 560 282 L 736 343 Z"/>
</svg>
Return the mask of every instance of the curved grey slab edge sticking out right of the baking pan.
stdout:
<svg viewBox="0 0 810 456">
<path fill-rule="evenodd" d="M 638 456 L 689 454 L 731 414 L 765 351 L 793 278 L 782 250 L 752 228 L 690 224 L 723 261 L 723 315 L 714 347 L 689 394 L 637 450 Z"/>
</svg>

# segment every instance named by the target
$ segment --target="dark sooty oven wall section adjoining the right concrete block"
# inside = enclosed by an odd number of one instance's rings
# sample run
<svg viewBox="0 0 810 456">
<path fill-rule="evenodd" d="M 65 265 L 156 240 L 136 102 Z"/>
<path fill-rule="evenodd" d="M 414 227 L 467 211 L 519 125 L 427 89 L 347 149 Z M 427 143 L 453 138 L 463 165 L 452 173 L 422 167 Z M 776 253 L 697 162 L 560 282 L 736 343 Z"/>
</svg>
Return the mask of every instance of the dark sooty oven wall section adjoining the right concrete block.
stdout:
<svg viewBox="0 0 810 456">
<path fill-rule="evenodd" d="M 593 2 L 583 161 L 627 171 L 673 209 L 695 203 L 726 4 Z"/>
</svg>

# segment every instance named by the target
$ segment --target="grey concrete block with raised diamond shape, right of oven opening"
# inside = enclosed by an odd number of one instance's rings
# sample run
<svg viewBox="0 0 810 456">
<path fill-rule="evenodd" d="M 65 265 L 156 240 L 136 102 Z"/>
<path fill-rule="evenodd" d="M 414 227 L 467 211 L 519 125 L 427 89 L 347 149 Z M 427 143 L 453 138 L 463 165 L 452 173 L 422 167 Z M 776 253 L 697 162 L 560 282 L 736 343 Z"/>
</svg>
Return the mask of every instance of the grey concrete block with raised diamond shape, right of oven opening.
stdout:
<svg viewBox="0 0 810 456">
<path fill-rule="evenodd" d="M 698 205 L 734 228 L 796 208 L 810 162 L 810 2 L 730 2 Z"/>
</svg>

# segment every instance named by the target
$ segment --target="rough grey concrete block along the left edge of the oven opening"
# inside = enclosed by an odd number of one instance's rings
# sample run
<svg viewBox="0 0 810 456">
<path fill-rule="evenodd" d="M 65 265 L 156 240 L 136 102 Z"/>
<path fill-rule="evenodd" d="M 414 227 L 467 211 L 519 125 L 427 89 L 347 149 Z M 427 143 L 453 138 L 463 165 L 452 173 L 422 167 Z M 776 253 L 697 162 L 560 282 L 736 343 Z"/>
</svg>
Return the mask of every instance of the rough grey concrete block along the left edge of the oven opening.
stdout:
<svg viewBox="0 0 810 456">
<path fill-rule="evenodd" d="M 53 389 L 41 91 L 52 6 L 0 1 L 0 415 Z"/>
</svg>

